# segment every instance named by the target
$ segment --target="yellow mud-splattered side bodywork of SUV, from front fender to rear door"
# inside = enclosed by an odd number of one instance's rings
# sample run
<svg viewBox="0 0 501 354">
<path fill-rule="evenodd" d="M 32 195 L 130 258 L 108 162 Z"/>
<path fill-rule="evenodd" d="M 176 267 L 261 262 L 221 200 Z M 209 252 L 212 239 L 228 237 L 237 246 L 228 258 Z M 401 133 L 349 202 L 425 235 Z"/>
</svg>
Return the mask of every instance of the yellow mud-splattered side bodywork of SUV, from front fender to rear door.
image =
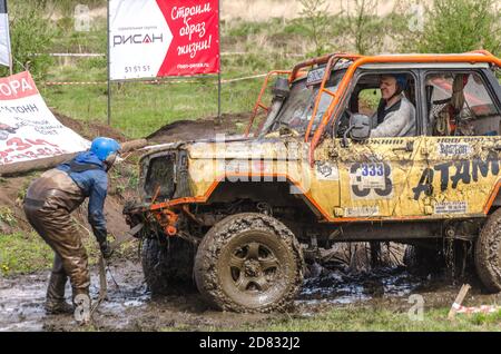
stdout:
<svg viewBox="0 0 501 354">
<path fill-rule="evenodd" d="M 488 213 L 500 166 L 499 137 L 325 139 L 285 156 L 282 141 L 188 147 L 189 185 L 207 200 L 219 183 L 287 181 L 326 222 L 461 218 Z M 281 153 L 282 151 L 282 153 Z"/>
</svg>

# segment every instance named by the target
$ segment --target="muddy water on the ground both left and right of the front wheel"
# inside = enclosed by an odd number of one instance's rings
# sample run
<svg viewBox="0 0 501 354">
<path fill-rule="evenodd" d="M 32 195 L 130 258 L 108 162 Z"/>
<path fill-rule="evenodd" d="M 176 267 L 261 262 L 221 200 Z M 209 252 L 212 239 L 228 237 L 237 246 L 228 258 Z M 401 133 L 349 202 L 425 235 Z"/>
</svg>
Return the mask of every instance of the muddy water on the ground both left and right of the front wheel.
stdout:
<svg viewBox="0 0 501 354">
<path fill-rule="evenodd" d="M 97 298 L 99 284 L 92 269 L 91 297 Z M 48 272 L 0 278 L 0 331 L 75 331 L 70 315 L 47 316 L 43 298 Z M 238 328 L 245 324 L 266 323 L 272 315 L 216 312 L 207 307 L 196 292 L 151 298 L 143 282 L 140 265 L 120 262 L 107 275 L 108 299 L 94 316 L 94 328 L 102 331 L 199 331 Z M 115 284 L 115 281 L 117 285 Z M 474 284 L 473 284 L 474 285 Z M 314 315 L 347 304 L 406 311 L 409 295 L 423 296 L 425 306 L 450 306 L 460 285 L 443 279 L 411 276 L 405 268 L 381 268 L 371 273 L 350 274 L 323 268 L 308 278 L 295 302 L 299 316 Z M 69 286 L 67 293 L 70 293 Z M 492 304 L 495 296 L 482 295 L 474 287 L 468 305 Z"/>
</svg>

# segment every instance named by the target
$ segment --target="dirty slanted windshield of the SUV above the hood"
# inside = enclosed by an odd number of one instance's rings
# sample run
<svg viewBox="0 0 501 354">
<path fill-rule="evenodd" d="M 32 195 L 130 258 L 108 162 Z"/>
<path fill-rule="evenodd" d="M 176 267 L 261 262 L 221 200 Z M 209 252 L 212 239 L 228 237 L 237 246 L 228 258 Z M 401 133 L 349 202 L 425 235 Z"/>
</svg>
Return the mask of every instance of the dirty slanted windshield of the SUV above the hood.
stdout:
<svg viewBox="0 0 501 354">
<path fill-rule="evenodd" d="M 335 92 L 344 72 L 345 70 L 334 72 L 331 76 L 331 79 L 325 83 L 325 88 Z M 315 106 L 320 86 L 321 83 L 306 85 L 306 79 L 294 82 L 291 88 L 291 94 L 281 108 L 271 130 L 274 131 L 285 126 L 297 132 L 304 134 L 313 115 L 313 108 Z M 332 96 L 324 92 L 312 126 L 312 134 L 318 126 L 318 122 L 327 110 L 331 101 Z"/>
</svg>

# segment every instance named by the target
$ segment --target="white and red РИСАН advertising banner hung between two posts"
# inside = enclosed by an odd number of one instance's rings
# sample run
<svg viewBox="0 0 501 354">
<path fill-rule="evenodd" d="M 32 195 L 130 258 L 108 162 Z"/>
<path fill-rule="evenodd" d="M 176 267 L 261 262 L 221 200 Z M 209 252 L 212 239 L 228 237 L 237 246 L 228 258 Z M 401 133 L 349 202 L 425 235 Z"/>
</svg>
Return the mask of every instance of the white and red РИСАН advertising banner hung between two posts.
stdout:
<svg viewBox="0 0 501 354">
<path fill-rule="evenodd" d="M 110 79 L 219 72 L 218 0 L 110 0 Z"/>
</svg>

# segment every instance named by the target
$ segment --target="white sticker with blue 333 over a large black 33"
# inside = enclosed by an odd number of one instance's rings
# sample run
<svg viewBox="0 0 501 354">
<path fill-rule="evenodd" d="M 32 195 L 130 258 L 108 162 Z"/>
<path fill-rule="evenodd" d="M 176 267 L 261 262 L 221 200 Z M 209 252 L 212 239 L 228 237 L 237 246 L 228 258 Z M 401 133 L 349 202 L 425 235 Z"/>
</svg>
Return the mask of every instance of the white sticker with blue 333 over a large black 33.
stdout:
<svg viewBox="0 0 501 354">
<path fill-rule="evenodd" d="M 356 163 L 350 167 L 354 199 L 386 199 L 393 195 L 392 168 L 386 163 Z"/>
</svg>

